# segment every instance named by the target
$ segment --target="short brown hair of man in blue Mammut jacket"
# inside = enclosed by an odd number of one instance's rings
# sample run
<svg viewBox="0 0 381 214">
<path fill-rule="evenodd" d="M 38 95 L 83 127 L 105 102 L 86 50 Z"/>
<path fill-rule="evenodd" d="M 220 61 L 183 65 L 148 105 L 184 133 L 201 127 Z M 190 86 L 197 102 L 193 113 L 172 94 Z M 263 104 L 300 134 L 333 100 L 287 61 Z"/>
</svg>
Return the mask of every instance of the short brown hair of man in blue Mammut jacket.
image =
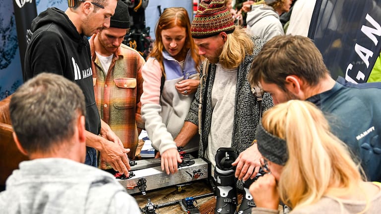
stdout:
<svg viewBox="0 0 381 214">
<path fill-rule="evenodd" d="M 310 86 L 318 85 L 329 71 L 323 57 L 311 39 L 302 36 L 276 36 L 270 39 L 254 57 L 249 82 L 274 83 L 285 89 L 285 79 L 296 75 Z"/>
</svg>

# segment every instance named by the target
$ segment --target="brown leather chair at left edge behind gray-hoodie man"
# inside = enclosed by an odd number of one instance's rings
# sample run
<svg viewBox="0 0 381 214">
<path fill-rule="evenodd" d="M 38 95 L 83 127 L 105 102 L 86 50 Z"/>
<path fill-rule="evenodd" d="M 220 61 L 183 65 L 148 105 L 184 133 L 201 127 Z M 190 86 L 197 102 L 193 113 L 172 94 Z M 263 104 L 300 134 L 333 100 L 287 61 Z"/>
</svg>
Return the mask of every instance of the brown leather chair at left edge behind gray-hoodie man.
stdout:
<svg viewBox="0 0 381 214">
<path fill-rule="evenodd" d="M 0 191 L 5 188 L 5 181 L 18 164 L 23 160 L 28 160 L 18 151 L 13 141 L 13 128 L 9 115 L 10 97 L 0 101 Z"/>
</svg>

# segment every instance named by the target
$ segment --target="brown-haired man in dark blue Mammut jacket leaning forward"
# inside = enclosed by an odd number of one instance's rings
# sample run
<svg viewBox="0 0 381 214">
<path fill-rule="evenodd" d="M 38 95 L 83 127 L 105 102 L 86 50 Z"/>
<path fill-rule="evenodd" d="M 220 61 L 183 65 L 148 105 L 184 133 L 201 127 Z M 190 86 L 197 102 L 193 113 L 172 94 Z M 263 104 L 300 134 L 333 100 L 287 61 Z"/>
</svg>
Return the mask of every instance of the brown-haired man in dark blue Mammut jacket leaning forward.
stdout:
<svg viewBox="0 0 381 214">
<path fill-rule="evenodd" d="M 334 81 L 307 37 L 277 36 L 254 58 L 249 82 L 260 82 L 274 104 L 307 100 L 326 113 L 332 133 L 345 142 L 368 179 L 381 181 L 381 83 Z"/>
</svg>

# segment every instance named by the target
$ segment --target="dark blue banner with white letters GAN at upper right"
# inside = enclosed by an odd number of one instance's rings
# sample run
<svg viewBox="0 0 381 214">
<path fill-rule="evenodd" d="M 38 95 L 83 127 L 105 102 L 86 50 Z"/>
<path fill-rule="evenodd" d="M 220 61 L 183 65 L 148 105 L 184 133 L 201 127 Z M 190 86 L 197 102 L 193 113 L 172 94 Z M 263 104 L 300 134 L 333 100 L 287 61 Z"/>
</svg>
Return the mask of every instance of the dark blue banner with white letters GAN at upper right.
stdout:
<svg viewBox="0 0 381 214">
<path fill-rule="evenodd" d="M 380 6 L 381 0 L 317 0 L 309 38 L 334 79 L 367 82 L 380 63 Z"/>
</svg>

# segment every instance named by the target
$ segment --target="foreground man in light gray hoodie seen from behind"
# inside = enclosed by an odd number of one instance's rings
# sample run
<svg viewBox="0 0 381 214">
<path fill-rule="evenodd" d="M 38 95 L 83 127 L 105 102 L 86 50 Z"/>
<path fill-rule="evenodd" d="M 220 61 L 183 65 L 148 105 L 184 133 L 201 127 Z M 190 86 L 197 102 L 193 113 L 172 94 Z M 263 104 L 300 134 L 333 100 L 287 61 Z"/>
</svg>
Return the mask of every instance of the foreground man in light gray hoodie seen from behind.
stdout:
<svg viewBox="0 0 381 214">
<path fill-rule="evenodd" d="M 0 193 L 1 214 L 137 214 L 136 201 L 113 175 L 82 164 L 85 98 L 75 83 L 41 73 L 9 104 L 13 138 L 29 157 Z"/>
</svg>

